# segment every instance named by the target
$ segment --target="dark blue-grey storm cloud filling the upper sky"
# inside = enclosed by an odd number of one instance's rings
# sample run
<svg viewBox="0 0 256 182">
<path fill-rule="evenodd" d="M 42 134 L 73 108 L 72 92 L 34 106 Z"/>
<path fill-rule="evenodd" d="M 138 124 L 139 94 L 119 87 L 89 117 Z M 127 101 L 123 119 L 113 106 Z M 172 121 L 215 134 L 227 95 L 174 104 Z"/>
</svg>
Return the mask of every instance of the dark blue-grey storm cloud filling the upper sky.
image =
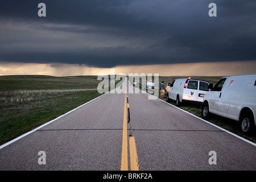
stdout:
<svg viewBox="0 0 256 182">
<path fill-rule="evenodd" d="M 47 17 L 39 18 L 38 4 Z M 217 17 L 208 5 L 217 5 Z M 0 61 L 129 64 L 255 60 L 256 2 L 5 1 Z"/>
</svg>

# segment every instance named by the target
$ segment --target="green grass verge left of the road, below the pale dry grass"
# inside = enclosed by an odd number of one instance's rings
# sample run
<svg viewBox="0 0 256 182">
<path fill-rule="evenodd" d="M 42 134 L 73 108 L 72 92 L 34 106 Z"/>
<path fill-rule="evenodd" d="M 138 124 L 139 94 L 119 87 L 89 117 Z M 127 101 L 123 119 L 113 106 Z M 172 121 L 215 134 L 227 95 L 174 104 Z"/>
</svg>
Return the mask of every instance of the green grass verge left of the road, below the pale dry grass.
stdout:
<svg viewBox="0 0 256 182">
<path fill-rule="evenodd" d="M 100 95 L 97 90 L 89 90 L 1 108 L 0 142 L 16 138 Z"/>
</svg>

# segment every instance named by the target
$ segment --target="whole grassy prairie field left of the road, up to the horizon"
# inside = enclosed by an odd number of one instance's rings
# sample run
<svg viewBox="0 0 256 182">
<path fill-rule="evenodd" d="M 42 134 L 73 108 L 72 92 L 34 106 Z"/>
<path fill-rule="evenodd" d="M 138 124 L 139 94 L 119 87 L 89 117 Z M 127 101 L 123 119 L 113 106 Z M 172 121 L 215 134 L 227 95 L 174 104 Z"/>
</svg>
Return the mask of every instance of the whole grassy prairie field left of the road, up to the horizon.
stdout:
<svg viewBox="0 0 256 182">
<path fill-rule="evenodd" d="M 0 76 L 0 144 L 100 96 L 100 82 L 97 76 Z"/>
</svg>

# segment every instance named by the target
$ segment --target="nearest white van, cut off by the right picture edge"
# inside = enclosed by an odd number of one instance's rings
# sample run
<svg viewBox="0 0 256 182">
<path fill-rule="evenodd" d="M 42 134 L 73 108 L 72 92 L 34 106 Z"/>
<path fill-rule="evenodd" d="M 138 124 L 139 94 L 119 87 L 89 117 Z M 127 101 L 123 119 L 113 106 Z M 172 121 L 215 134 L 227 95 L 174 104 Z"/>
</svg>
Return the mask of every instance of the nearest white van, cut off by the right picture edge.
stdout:
<svg viewBox="0 0 256 182">
<path fill-rule="evenodd" d="M 256 74 L 221 78 L 204 97 L 202 118 L 210 113 L 239 121 L 241 133 L 251 133 L 256 125 Z"/>
</svg>

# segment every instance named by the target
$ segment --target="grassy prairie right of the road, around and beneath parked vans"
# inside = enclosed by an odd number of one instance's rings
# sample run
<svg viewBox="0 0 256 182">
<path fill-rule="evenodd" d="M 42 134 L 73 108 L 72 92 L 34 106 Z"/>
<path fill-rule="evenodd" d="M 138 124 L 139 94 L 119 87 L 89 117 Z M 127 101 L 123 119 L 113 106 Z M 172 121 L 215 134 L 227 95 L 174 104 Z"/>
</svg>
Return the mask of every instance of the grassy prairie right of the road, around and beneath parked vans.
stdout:
<svg viewBox="0 0 256 182">
<path fill-rule="evenodd" d="M 174 81 L 177 78 L 186 78 L 186 77 L 185 76 L 159 76 L 159 84 L 160 84 L 161 81 L 164 81 L 164 84 L 167 86 L 167 84 L 169 82 L 171 83 L 172 81 Z M 218 80 L 220 80 L 220 78 L 222 78 L 222 76 L 207 76 L 207 77 L 205 77 L 205 76 L 193 76 L 191 78 L 209 81 L 210 83 L 212 83 L 214 85 L 214 84 L 217 83 Z M 152 76 L 152 81 L 154 82 L 154 77 L 153 76 Z M 142 86 L 141 86 L 141 89 L 143 89 Z M 159 92 L 158 98 L 160 98 L 160 92 Z M 166 101 L 166 97 L 162 100 Z M 169 103 L 172 104 L 172 105 L 176 104 L 175 101 L 172 101 L 172 100 Z M 186 104 L 182 104 L 179 107 L 180 107 L 180 109 L 188 111 L 189 113 L 192 113 L 192 114 L 196 115 L 197 117 L 201 118 L 201 106 L 200 105 L 186 103 Z M 220 117 L 220 116 L 214 115 L 214 114 L 211 115 L 211 117 L 208 119 L 208 121 L 213 123 L 214 125 L 222 127 L 225 130 L 228 130 L 228 131 L 230 131 L 234 134 L 237 134 L 240 137 L 243 137 L 247 140 L 250 140 L 251 142 L 256 143 L 256 132 L 251 136 L 241 134 L 240 131 L 239 131 L 239 128 L 238 128 L 238 122 L 237 121 L 233 121 L 232 119 Z"/>
</svg>

